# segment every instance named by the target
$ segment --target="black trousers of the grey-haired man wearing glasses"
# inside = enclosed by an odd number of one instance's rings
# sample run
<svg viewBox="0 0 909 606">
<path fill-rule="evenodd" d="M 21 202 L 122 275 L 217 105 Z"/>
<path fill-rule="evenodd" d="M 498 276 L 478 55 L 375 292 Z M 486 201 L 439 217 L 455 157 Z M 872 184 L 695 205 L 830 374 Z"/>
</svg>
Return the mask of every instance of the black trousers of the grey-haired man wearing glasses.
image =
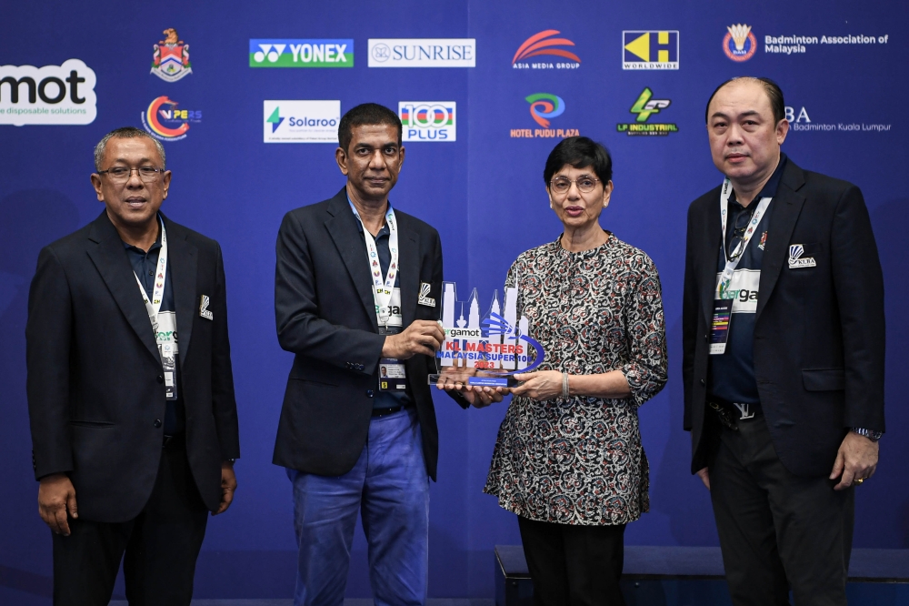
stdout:
<svg viewBox="0 0 909 606">
<path fill-rule="evenodd" d="M 107 606 L 121 559 L 130 606 L 189 606 L 207 522 L 185 442 L 172 440 L 135 520 L 70 518 L 70 536 L 53 534 L 55 606 Z"/>
</svg>

